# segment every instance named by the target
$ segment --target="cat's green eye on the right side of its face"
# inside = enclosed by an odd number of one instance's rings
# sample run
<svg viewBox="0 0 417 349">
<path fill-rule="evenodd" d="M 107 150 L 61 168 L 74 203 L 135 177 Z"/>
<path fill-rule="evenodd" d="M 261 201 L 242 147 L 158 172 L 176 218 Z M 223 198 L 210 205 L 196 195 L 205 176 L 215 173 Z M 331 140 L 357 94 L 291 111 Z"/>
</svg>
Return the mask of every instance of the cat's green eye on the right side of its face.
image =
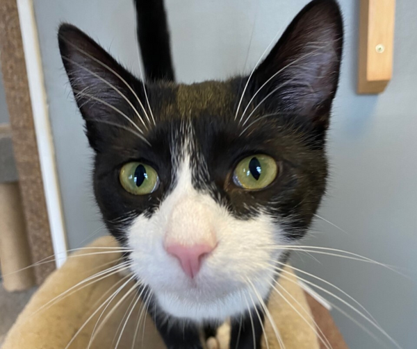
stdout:
<svg viewBox="0 0 417 349">
<path fill-rule="evenodd" d="M 277 177 L 277 162 L 268 155 L 252 155 L 238 163 L 233 180 L 244 189 L 262 189 Z"/>
</svg>

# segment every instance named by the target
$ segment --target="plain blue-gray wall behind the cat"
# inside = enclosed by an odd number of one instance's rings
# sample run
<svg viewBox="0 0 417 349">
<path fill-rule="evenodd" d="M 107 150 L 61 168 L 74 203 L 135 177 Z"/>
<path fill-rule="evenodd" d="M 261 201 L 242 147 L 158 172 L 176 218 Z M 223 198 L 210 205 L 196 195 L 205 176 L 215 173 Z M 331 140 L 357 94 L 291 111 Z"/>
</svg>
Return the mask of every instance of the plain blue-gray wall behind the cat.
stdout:
<svg viewBox="0 0 417 349">
<path fill-rule="evenodd" d="M 249 71 L 307 0 L 166 2 L 177 76 L 192 82 Z M 393 80 L 379 96 L 355 94 L 358 3 L 341 0 L 345 60 L 329 135 L 332 180 L 319 212 L 347 233 L 318 221 L 306 242 L 393 264 L 416 282 L 417 2 L 397 1 Z M 38 0 L 35 12 L 68 239 L 74 248 L 85 244 L 101 223 L 90 185 L 92 152 L 58 56 L 56 29 L 61 21 L 76 24 L 138 73 L 133 7 L 130 0 Z M 412 282 L 379 266 L 314 257 L 321 263 L 300 254 L 295 264 L 363 303 L 402 348 L 416 348 L 417 292 Z M 382 348 L 350 320 L 337 312 L 334 316 L 350 348 Z"/>
</svg>

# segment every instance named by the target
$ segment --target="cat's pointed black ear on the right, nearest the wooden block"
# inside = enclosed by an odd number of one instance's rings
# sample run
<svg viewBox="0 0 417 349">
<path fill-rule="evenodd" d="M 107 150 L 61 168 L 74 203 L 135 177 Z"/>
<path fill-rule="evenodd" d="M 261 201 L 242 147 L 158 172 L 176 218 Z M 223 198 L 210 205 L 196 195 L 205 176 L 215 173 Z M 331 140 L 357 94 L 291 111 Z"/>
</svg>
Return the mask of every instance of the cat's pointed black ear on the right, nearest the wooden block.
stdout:
<svg viewBox="0 0 417 349">
<path fill-rule="evenodd" d="M 343 23 L 334 0 L 311 1 L 254 72 L 256 102 L 309 117 L 325 130 L 341 65 Z"/>
</svg>

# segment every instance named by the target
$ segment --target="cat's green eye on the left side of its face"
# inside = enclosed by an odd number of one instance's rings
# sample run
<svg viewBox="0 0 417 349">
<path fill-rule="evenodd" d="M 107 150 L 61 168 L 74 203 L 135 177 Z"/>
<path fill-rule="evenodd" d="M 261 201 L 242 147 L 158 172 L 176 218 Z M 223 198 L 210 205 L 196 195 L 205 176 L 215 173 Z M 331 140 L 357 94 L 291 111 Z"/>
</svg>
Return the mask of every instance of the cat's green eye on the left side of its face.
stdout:
<svg viewBox="0 0 417 349">
<path fill-rule="evenodd" d="M 133 195 L 150 194 L 159 184 L 158 173 L 142 162 L 125 164 L 120 170 L 119 178 L 124 190 Z"/>
</svg>

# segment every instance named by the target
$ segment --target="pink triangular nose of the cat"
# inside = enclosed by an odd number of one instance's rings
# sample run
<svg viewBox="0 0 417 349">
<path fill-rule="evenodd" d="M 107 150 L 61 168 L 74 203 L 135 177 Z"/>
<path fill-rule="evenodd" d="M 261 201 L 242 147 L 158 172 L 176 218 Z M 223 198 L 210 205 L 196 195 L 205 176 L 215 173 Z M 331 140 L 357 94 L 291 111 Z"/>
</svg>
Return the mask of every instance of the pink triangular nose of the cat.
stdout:
<svg viewBox="0 0 417 349">
<path fill-rule="evenodd" d="M 181 263 L 183 271 L 194 278 L 202 266 L 202 258 L 214 249 L 213 246 L 202 244 L 194 246 L 183 246 L 172 244 L 166 247 L 167 253 L 177 257 Z"/>
</svg>

